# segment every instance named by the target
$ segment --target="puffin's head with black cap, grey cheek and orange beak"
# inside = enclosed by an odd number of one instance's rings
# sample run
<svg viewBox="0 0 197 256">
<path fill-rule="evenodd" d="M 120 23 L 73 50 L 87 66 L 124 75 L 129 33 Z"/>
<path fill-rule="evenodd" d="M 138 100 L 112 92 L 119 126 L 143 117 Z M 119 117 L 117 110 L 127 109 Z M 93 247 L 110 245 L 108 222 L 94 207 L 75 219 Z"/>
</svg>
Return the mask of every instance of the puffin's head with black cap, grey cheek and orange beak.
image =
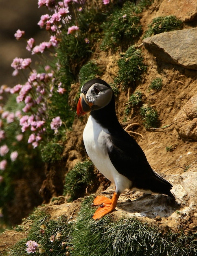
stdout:
<svg viewBox="0 0 197 256">
<path fill-rule="evenodd" d="M 81 117 L 92 110 L 104 108 L 112 100 L 113 90 L 104 80 L 93 79 L 81 88 L 77 104 L 77 116 Z"/>
</svg>

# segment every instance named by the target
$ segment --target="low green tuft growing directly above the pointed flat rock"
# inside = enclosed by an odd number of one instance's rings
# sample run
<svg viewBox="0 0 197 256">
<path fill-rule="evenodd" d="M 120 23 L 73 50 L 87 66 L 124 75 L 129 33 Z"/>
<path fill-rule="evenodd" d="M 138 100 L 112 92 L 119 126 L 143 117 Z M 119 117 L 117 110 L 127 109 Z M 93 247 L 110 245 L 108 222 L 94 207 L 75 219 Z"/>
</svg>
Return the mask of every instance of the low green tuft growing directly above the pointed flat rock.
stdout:
<svg viewBox="0 0 197 256">
<path fill-rule="evenodd" d="M 148 26 L 148 30 L 144 34 L 144 38 L 182 28 L 182 21 L 178 20 L 176 16 L 164 16 L 154 18 Z"/>
</svg>

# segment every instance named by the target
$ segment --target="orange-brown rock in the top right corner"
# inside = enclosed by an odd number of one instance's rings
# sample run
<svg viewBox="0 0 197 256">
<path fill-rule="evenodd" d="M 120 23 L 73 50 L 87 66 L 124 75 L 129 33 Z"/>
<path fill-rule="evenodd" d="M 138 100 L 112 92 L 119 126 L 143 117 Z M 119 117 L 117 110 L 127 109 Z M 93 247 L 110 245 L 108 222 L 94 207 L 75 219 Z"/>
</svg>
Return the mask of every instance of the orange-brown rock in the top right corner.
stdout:
<svg viewBox="0 0 197 256">
<path fill-rule="evenodd" d="M 183 22 L 197 20 L 196 0 L 164 0 L 157 12 L 157 16 L 175 15 Z"/>
</svg>

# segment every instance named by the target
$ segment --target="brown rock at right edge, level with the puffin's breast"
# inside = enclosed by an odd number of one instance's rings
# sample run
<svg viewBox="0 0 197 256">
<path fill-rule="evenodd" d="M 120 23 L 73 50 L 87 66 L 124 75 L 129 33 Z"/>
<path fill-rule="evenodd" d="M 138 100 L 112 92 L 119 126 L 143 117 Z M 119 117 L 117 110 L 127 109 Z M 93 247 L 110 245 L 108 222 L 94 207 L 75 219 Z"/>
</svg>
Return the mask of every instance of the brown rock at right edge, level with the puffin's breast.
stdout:
<svg viewBox="0 0 197 256">
<path fill-rule="evenodd" d="M 173 121 L 180 138 L 197 140 L 197 94 L 182 107 Z"/>
</svg>

